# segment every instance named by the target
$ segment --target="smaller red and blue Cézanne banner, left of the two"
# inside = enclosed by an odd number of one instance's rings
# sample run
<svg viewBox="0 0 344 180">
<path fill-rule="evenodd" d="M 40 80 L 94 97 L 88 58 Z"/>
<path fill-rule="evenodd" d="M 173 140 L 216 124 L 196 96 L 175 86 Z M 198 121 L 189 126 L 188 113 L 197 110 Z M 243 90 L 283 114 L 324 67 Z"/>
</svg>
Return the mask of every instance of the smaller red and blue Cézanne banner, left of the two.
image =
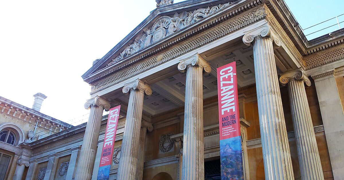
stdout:
<svg viewBox="0 0 344 180">
<path fill-rule="evenodd" d="M 104 144 L 100 156 L 97 180 L 109 179 L 120 108 L 121 106 L 117 106 L 109 110 L 108 123 L 106 124 Z"/>
</svg>

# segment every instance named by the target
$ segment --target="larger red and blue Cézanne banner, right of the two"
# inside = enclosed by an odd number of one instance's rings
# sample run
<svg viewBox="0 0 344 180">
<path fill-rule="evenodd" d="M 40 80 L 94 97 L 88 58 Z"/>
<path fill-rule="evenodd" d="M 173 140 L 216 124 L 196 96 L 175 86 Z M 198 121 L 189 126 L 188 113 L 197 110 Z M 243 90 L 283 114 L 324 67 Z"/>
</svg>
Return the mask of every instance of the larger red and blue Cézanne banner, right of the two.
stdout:
<svg viewBox="0 0 344 180">
<path fill-rule="evenodd" d="M 243 180 L 235 61 L 217 68 L 221 180 Z"/>
</svg>

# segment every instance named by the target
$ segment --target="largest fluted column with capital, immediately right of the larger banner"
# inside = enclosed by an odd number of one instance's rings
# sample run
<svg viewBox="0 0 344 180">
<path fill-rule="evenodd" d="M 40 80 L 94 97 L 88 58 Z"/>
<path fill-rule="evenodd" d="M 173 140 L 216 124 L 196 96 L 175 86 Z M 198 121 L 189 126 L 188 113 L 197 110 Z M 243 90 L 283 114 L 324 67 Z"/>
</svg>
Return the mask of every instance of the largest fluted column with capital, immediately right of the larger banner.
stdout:
<svg viewBox="0 0 344 180">
<path fill-rule="evenodd" d="M 243 41 L 253 45 L 258 114 L 265 179 L 294 179 L 282 108 L 273 45 L 280 46 L 268 25 L 246 32 Z"/>
</svg>

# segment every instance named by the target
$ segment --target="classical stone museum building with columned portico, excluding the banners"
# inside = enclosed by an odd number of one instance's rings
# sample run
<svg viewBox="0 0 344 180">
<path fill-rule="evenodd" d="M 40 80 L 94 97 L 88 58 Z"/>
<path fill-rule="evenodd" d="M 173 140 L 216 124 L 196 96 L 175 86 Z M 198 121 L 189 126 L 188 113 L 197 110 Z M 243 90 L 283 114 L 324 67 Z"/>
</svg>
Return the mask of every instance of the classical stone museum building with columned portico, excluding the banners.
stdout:
<svg viewBox="0 0 344 180">
<path fill-rule="evenodd" d="M 216 69 L 234 61 L 244 179 L 343 179 L 343 29 L 307 40 L 282 0 L 156 2 L 82 75 L 87 123 L 30 139 L 57 121 L 1 99 L 16 141 L 0 142 L 0 180 L 97 179 L 103 112 L 118 105 L 110 179 L 221 179 Z"/>
</svg>

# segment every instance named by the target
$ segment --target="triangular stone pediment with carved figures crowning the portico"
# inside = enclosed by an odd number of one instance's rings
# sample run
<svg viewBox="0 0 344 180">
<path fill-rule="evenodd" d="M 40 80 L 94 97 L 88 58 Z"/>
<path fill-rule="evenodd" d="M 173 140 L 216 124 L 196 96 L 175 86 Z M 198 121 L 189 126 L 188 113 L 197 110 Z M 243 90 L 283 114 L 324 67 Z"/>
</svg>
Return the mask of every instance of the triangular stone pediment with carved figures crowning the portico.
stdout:
<svg viewBox="0 0 344 180">
<path fill-rule="evenodd" d="M 135 28 L 125 39 L 110 50 L 103 58 L 99 59 L 82 77 L 87 79 L 92 73 L 107 68 L 114 64 L 125 62 L 130 57 L 137 55 L 140 51 L 150 48 L 164 39 L 177 34 L 184 28 L 215 14 L 231 5 L 234 1 L 212 1 L 203 0 L 195 3 L 193 0 L 171 4 L 157 8 L 151 12 L 137 28 Z M 216 5 L 216 3 L 218 3 Z M 181 8 L 178 5 L 181 4 Z M 176 10 L 173 10 L 174 7 Z M 170 7 L 170 8 L 169 8 Z M 157 12 L 155 12 L 157 11 Z M 167 12 L 165 12 L 167 11 Z M 157 14 L 157 15 L 154 15 Z M 137 31 L 135 31 L 137 29 Z M 135 33 L 136 32 L 136 33 Z"/>
</svg>

